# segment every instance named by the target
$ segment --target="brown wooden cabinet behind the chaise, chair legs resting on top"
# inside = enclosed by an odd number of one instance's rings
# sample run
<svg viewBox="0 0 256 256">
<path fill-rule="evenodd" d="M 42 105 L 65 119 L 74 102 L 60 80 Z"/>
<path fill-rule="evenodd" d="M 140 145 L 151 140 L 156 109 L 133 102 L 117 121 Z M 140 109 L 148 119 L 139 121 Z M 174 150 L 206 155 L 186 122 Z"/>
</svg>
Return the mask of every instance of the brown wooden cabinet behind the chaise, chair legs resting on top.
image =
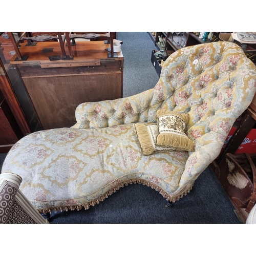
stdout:
<svg viewBox="0 0 256 256">
<path fill-rule="evenodd" d="M 10 63 L 18 70 L 44 130 L 74 125 L 80 103 L 122 98 L 123 55 L 108 57 L 109 47 L 104 41 L 77 41 L 73 59 L 50 60 L 61 56 L 59 42 L 20 44 L 27 60 L 14 56 Z"/>
</svg>

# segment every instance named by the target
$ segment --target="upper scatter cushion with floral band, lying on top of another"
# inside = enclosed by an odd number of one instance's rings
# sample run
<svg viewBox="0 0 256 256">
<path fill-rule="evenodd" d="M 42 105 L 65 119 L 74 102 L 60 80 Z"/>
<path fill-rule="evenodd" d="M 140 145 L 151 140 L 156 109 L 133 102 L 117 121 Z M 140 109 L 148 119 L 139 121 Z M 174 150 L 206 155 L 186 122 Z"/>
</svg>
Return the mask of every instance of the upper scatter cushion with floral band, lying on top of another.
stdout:
<svg viewBox="0 0 256 256">
<path fill-rule="evenodd" d="M 173 147 L 178 151 L 195 151 L 193 141 L 184 132 L 189 121 L 188 114 L 158 110 L 156 116 L 158 125 L 156 146 Z"/>
</svg>

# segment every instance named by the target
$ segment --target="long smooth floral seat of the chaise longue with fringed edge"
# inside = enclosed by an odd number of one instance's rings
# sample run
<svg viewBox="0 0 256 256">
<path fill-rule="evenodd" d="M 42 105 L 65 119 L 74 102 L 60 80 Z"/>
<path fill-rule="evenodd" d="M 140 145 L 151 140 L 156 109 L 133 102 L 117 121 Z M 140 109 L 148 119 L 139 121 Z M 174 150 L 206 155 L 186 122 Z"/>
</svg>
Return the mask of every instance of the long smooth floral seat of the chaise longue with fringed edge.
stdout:
<svg viewBox="0 0 256 256">
<path fill-rule="evenodd" d="M 9 151 L 2 172 L 23 178 L 20 190 L 41 212 L 80 209 L 128 183 L 142 183 L 166 199 L 178 187 L 188 152 L 144 156 L 134 124 L 102 129 L 39 131 Z"/>
</svg>

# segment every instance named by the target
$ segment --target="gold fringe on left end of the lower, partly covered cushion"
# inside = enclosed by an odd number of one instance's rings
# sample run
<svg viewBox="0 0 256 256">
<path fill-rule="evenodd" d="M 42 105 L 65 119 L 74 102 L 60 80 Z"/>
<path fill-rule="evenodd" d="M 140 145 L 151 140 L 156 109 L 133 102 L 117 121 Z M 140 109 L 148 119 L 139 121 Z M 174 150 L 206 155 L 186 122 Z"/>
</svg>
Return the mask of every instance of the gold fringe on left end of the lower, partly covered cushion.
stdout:
<svg viewBox="0 0 256 256">
<path fill-rule="evenodd" d="M 145 124 L 136 123 L 135 129 L 143 155 L 153 154 L 155 152 L 155 148 L 151 140 L 150 133 L 147 130 L 147 126 Z"/>
</svg>

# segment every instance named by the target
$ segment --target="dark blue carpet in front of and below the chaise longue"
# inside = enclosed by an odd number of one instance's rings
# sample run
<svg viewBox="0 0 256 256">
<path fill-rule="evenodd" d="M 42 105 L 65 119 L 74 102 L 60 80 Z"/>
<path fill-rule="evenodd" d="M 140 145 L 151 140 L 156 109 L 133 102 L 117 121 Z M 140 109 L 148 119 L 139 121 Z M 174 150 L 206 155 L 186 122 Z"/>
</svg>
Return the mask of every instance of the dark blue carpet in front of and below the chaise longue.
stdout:
<svg viewBox="0 0 256 256">
<path fill-rule="evenodd" d="M 242 224 L 214 172 L 208 167 L 187 196 L 165 207 L 151 187 L 130 184 L 88 210 L 51 214 L 50 222 L 70 224 Z"/>
</svg>

